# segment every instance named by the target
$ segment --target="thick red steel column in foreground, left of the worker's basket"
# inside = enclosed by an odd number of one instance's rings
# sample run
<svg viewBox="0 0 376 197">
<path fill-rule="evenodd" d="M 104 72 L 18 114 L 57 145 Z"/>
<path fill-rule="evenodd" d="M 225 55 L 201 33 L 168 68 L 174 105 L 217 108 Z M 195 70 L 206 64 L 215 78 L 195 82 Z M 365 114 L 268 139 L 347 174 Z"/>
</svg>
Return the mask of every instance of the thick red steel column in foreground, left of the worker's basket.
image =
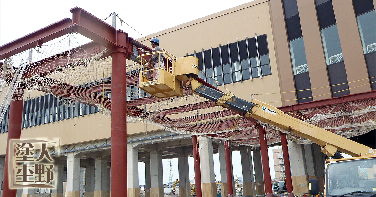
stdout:
<svg viewBox="0 0 376 197">
<path fill-rule="evenodd" d="M 118 43 L 126 43 L 118 33 Z M 127 51 L 111 53 L 111 196 L 127 196 Z"/>
</svg>

